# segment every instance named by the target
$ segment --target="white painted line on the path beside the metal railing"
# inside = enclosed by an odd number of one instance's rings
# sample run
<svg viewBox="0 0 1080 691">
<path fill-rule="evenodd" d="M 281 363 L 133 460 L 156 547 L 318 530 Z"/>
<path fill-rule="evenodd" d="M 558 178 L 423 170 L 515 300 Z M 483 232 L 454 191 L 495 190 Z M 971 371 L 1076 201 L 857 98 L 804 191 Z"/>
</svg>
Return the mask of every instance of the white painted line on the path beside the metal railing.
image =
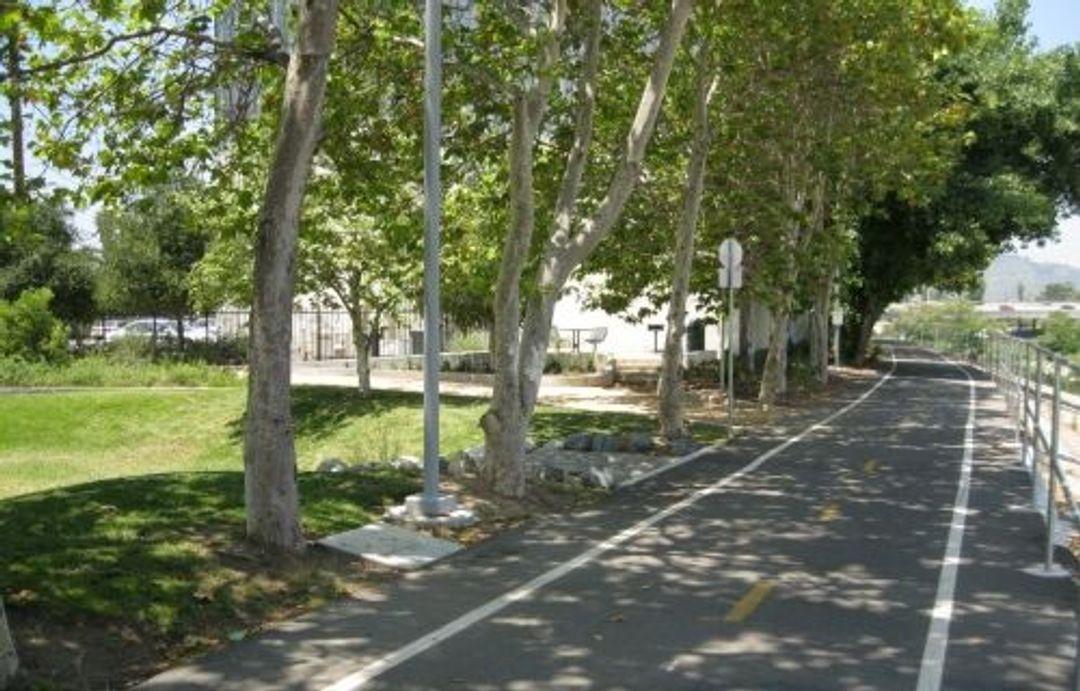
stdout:
<svg viewBox="0 0 1080 691">
<path fill-rule="evenodd" d="M 949 360 L 945 362 L 957 367 L 968 378 L 968 423 L 963 431 L 960 483 L 956 488 L 953 520 L 949 524 L 945 556 L 942 558 L 942 570 L 937 577 L 937 595 L 934 597 L 934 608 L 930 613 L 930 629 L 927 633 L 926 648 L 922 650 L 916 691 L 937 691 L 942 686 L 948 649 L 948 629 L 953 622 L 956 579 L 960 568 L 960 550 L 963 546 L 963 529 L 968 518 L 968 498 L 971 494 L 971 469 L 975 456 L 975 380 L 964 367 Z"/>
</svg>

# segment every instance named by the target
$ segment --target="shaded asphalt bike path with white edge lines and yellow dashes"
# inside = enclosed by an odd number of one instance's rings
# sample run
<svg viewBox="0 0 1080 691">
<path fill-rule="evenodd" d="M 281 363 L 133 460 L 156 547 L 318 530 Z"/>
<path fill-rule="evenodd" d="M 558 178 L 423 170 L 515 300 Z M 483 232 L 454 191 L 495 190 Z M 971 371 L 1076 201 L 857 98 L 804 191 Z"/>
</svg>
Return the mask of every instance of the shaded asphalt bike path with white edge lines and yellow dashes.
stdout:
<svg viewBox="0 0 1080 691">
<path fill-rule="evenodd" d="M 935 360 L 144 688 L 1071 688 L 1002 403 Z"/>
</svg>

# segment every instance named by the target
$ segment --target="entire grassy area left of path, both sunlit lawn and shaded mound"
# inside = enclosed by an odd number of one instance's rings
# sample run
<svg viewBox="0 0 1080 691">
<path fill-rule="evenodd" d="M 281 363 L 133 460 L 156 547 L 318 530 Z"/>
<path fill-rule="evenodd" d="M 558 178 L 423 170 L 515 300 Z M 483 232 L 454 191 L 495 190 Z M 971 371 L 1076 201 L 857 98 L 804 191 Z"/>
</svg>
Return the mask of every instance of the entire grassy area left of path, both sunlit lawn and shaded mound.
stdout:
<svg viewBox="0 0 1080 691">
<path fill-rule="evenodd" d="M 354 563 L 312 555 L 283 564 L 243 544 L 244 395 L 233 387 L 0 396 L 0 593 L 28 646 L 25 662 L 49 670 L 42 678 L 116 686 L 363 581 Z M 444 397 L 442 448 L 481 443 L 486 405 Z M 419 394 L 362 398 L 348 389 L 300 387 L 294 410 L 309 537 L 368 523 L 418 489 L 416 478 L 389 469 L 305 471 L 326 457 L 419 455 Z M 534 436 L 652 424 L 541 408 Z M 64 662 L 65 654 L 78 659 L 69 643 L 90 651 L 78 674 Z"/>
</svg>

